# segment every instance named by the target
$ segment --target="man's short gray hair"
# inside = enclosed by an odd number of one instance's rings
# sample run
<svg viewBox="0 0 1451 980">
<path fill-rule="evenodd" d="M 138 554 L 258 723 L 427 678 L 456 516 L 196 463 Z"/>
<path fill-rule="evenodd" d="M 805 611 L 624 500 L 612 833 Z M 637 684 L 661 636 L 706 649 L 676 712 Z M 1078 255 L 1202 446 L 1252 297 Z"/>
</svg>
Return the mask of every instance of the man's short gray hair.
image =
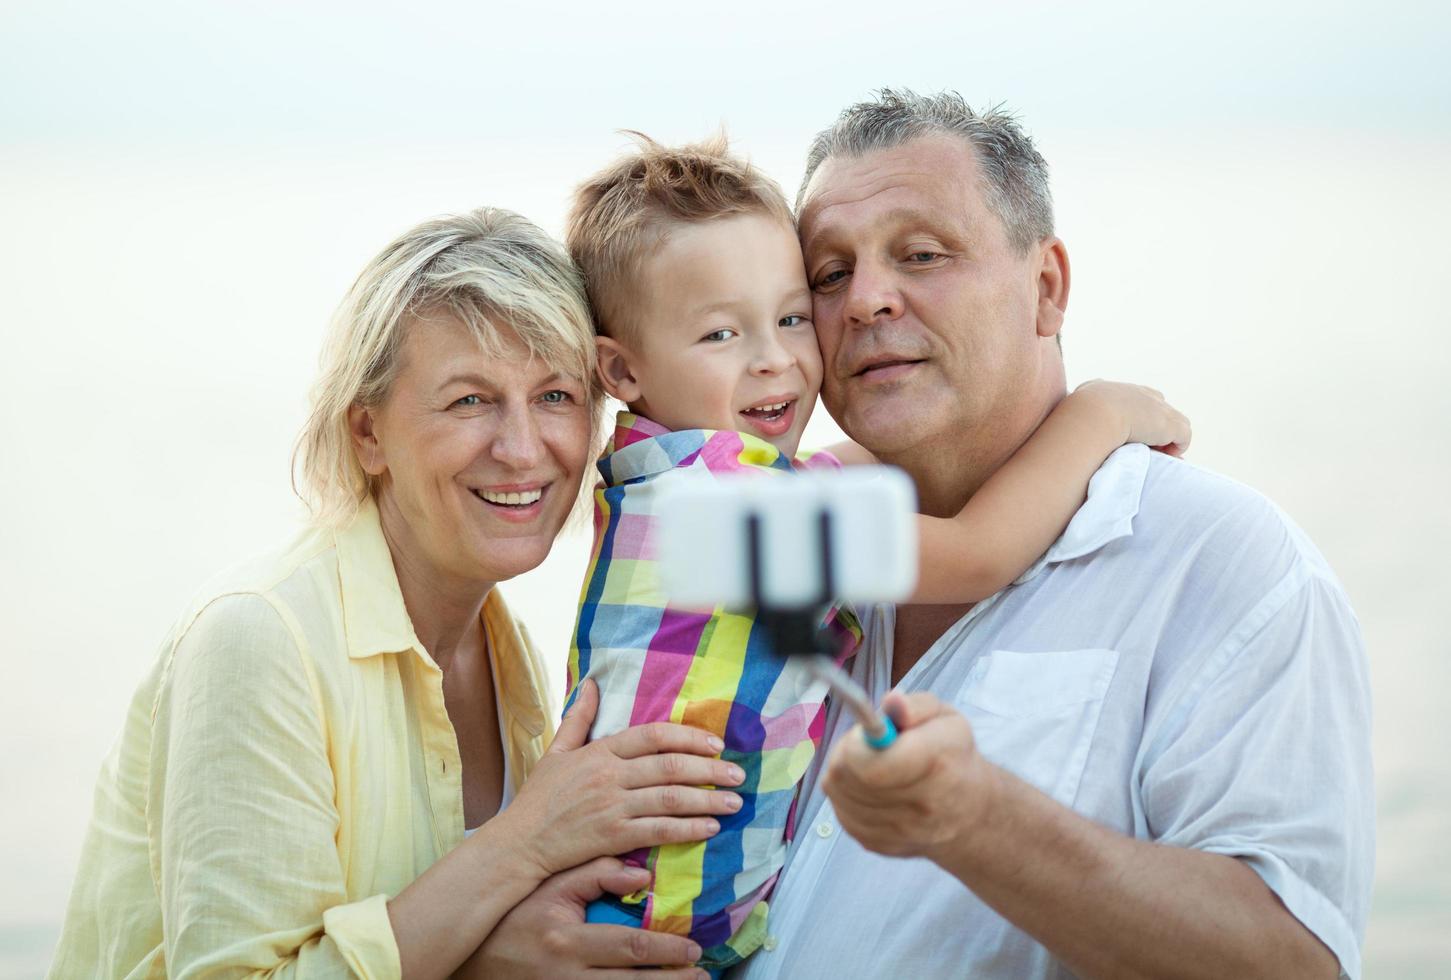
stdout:
<svg viewBox="0 0 1451 980">
<path fill-rule="evenodd" d="M 807 184 L 826 160 L 860 157 L 932 135 L 961 136 L 972 147 L 984 177 L 987 203 L 1007 228 L 1008 241 L 1027 251 L 1053 234 L 1053 196 L 1048 163 L 1017 119 L 992 106 L 974 112 L 956 91 L 918 96 L 910 89 L 882 89 L 876 99 L 847 106 L 817 134 L 807 154 L 807 174 L 797 193 L 801 209 Z"/>
</svg>

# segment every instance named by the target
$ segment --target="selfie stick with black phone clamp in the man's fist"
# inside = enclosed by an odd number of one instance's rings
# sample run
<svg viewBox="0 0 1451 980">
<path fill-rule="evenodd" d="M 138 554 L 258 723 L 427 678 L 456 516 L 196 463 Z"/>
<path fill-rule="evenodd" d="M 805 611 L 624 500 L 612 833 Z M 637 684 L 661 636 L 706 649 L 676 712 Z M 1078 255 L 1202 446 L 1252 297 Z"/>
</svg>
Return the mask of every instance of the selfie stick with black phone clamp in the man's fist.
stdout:
<svg viewBox="0 0 1451 980">
<path fill-rule="evenodd" d="M 836 665 L 831 642 L 817 629 L 820 610 L 831 604 L 836 591 L 831 581 L 831 514 L 826 510 L 817 514 L 817 546 L 821 591 L 817 600 L 792 607 L 778 607 L 762 597 L 760 560 L 760 517 L 746 517 L 746 555 L 750 563 L 750 594 L 755 600 L 756 620 L 766 629 L 776 653 L 784 656 L 805 656 L 811 674 L 850 709 L 862 726 L 866 743 L 874 749 L 885 749 L 897 740 L 897 726 L 884 711 L 876 710 L 862 685 Z"/>
</svg>

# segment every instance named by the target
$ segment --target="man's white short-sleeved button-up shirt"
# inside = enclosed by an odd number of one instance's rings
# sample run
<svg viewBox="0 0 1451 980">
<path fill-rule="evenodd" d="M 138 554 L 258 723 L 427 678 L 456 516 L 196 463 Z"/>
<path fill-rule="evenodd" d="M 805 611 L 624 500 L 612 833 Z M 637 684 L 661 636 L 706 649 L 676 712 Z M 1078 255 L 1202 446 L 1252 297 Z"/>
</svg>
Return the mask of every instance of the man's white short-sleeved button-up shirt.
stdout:
<svg viewBox="0 0 1451 980">
<path fill-rule="evenodd" d="M 892 607 L 852 672 L 888 691 Z M 1325 560 L 1239 483 L 1129 446 L 1064 536 L 907 672 L 984 756 L 1122 833 L 1244 859 L 1360 976 L 1374 865 L 1370 681 Z M 852 726 L 833 706 L 824 743 Z M 891 749 L 888 749 L 891 751 Z M 865 851 L 817 788 L 737 979 L 1066 977 L 923 858 Z"/>
</svg>

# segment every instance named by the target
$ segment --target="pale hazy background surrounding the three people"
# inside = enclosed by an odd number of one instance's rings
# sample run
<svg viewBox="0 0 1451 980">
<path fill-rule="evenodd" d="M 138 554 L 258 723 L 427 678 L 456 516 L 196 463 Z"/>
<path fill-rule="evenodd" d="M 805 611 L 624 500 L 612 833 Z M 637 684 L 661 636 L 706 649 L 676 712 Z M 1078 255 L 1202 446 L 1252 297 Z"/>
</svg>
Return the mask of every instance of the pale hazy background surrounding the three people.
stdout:
<svg viewBox="0 0 1451 980">
<path fill-rule="evenodd" d="M 1191 459 L 1341 575 L 1376 690 L 1365 976 L 1447 976 L 1451 7 L 1019 6 L 0 4 L 0 977 L 49 961 L 173 617 L 297 526 L 292 440 L 363 263 L 480 203 L 559 234 L 621 128 L 726 125 L 794 190 L 884 84 L 1022 113 L 1069 379 L 1162 388 Z M 505 587 L 556 663 L 586 544 Z"/>
</svg>

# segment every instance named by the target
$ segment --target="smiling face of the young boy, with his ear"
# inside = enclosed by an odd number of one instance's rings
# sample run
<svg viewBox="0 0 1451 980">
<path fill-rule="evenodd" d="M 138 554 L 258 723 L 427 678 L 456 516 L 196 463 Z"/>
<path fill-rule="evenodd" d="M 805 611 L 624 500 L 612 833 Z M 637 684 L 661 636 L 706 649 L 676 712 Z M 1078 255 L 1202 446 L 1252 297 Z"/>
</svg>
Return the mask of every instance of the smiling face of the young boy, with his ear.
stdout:
<svg viewBox="0 0 1451 980">
<path fill-rule="evenodd" d="M 756 213 L 672 225 L 634 295 L 628 335 L 598 340 L 609 393 L 666 428 L 737 430 L 794 456 L 821 388 L 795 229 Z"/>
</svg>

